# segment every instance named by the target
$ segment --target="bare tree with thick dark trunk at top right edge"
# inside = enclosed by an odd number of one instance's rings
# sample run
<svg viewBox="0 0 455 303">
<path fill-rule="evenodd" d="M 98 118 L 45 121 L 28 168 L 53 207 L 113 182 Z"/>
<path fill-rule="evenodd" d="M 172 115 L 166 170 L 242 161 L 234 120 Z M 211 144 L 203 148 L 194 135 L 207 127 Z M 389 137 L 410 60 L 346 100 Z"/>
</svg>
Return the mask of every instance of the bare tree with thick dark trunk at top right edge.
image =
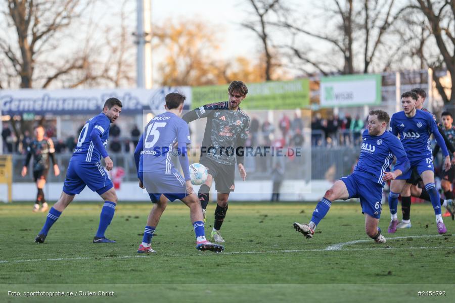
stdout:
<svg viewBox="0 0 455 303">
<path fill-rule="evenodd" d="M 425 15 L 432 37 L 436 41 L 439 54 L 426 58 L 433 71 L 436 88 L 445 103 L 455 102 L 455 1 L 454 0 L 415 0 L 417 7 Z M 415 3 L 416 3 L 415 2 Z M 424 55 L 422 54 L 422 57 Z M 438 71 L 446 68 L 450 73 L 450 95 L 440 81 Z"/>
</svg>

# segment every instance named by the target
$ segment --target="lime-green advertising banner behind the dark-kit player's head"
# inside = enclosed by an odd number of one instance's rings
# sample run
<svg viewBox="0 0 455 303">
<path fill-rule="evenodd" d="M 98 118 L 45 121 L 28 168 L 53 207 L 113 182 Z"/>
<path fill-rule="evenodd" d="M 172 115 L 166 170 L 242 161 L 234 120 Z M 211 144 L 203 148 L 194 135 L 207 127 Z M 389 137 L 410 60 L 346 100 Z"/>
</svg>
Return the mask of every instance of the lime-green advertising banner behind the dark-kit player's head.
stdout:
<svg viewBox="0 0 455 303">
<path fill-rule="evenodd" d="M 240 107 L 248 110 L 299 109 L 309 105 L 309 80 L 246 83 L 248 94 Z M 226 85 L 193 87 L 192 108 L 228 100 Z"/>
</svg>

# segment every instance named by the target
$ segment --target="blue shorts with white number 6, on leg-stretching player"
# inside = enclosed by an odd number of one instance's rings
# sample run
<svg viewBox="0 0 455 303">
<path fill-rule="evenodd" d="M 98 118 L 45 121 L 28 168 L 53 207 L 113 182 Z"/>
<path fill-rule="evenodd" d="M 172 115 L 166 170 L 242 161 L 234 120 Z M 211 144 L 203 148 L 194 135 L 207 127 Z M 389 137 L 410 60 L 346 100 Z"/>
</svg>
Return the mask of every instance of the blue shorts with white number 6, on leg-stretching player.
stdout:
<svg viewBox="0 0 455 303">
<path fill-rule="evenodd" d="M 356 175 L 342 177 L 340 180 L 346 185 L 349 199 L 360 198 L 362 214 L 376 219 L 381 217 L 382 184 Z"/>
</svg>

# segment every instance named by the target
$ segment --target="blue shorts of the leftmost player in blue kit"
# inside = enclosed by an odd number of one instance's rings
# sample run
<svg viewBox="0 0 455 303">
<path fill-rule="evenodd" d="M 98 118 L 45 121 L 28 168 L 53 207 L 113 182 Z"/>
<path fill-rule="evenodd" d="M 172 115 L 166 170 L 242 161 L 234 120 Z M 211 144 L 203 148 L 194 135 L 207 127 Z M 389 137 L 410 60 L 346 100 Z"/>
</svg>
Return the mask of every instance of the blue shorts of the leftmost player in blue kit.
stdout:
<svg viewBox="0 0 455 303">
<path fill-rule="evenodd" d="M 63 183 L 63 191 L 69 195 L 79 194 L 85 186 L 102 195 L 114 187 L 114 184 L 100 162 L 70 161 Z"/>
</svg>

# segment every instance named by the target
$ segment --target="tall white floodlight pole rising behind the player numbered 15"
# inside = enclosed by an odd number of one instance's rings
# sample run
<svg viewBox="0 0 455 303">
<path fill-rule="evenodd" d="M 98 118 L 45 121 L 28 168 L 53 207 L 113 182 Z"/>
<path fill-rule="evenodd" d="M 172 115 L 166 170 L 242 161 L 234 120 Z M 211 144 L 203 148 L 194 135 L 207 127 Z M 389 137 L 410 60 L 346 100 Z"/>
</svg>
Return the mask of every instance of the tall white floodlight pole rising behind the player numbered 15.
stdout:
<svg viewBox="0 0 455 303">
<path fill-rule="evenodd" d="M 137 0 L 136 58 L 137 85 L 152 88 L 152 0 Z"/>
</svg>

